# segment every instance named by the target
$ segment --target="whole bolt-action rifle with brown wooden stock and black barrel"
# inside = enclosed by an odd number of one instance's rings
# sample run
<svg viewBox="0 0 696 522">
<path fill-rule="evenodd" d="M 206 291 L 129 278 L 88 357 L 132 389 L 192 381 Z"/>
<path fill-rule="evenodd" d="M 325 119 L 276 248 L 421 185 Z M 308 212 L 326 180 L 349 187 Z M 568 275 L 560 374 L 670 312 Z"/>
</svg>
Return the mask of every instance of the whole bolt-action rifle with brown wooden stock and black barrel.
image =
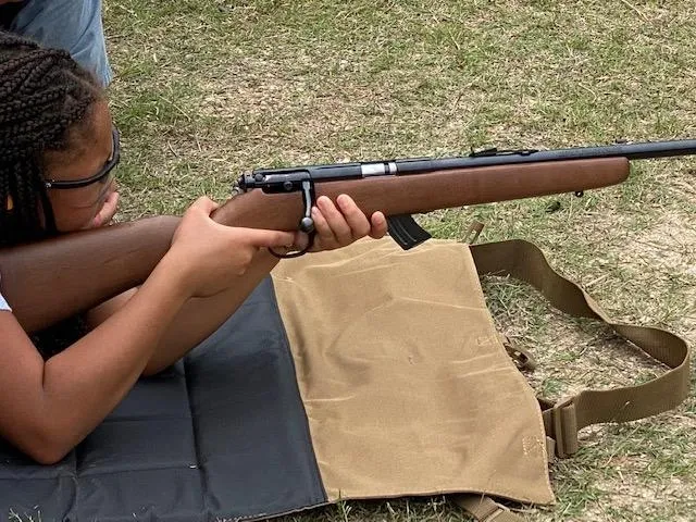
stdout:
<svg viewBox="0 0 696 522">
<path fill-rule="evenodd" d="M 689 139 L 258 169 L 237 179 L 237 194 L 213 219 L 229 226 L 311 234 L 315 199 L 347 194 L 366 215 L 384 212 L 390 236 L 412 248 L 430 235 L 411 214 L 581 195 L 625 181 L 631 161 L 695 153 L 696 140 Z M 42 327 L 141 284 L 166 252 L 177 223 L 174 216 L 150 217 L 0 250 L 1 291 L 26 330 Z"/>
</svg>

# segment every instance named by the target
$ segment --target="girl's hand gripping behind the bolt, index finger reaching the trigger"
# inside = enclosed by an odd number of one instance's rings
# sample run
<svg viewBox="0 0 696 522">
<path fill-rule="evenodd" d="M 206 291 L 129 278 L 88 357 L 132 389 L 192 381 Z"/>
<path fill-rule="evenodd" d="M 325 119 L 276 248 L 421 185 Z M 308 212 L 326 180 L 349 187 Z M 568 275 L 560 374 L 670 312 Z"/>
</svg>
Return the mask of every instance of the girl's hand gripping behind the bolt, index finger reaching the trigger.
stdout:
<svg viewBox="0 0 696 522">
<path fill-rule="evenodd" d="M 184 214 L 172 247 L 162 260 L 191 297 L 210 297 L 244 275 L 262 248 L 291 247 L 291 232 L 225 226 L 210 214 L 217 203 L 200 198 Z"/>
</svg>

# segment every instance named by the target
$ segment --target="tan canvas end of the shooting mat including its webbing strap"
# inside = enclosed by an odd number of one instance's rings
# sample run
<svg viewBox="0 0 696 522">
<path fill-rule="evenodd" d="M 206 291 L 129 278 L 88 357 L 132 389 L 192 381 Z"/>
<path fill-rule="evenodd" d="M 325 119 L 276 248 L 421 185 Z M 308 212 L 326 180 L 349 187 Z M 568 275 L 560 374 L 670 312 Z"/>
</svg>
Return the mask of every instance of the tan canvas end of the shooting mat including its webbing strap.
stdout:
<svg viewBox="0 0 696 522">
<path fill-rule="evenodd" d="M 496 332 L 480 274 L 530 283 L 670 370 L 559 403 L 537 398 Z M 361 240 L 284 261 L 272 276 L 330 501 L 451 494 L 480 521 L 518 520 L 493 498 L 552 504 L 548 463 L 577 451 L 579 430 L 669 410 L 688 393 L 683 339 L 614 323 L 525 241 L 402 251 Z"/>
</svg>

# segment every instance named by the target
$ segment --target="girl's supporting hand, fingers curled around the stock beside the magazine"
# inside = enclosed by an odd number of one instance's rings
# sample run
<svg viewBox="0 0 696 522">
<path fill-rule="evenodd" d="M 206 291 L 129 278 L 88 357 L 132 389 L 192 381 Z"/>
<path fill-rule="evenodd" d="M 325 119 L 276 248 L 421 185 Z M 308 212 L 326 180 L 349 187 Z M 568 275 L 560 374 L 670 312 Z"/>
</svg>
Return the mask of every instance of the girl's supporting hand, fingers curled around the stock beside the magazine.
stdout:
<svg viewBox="0 0 696 522">
<path fill-rule="evenodd" d="M 352 198 L 345 194 L 336 198 L 335 204 L 326 196 L 320 196 L 312 209 L 312 219 L 316 235 L 311 252 L 346 247 L 365 236 L 380 239 L 387 233 L 387 220 L 382 212 L 375 212 L 368 220 Z M 295 243 L 307 245 L 307 236 L 300 234 Z"/>
</svg>

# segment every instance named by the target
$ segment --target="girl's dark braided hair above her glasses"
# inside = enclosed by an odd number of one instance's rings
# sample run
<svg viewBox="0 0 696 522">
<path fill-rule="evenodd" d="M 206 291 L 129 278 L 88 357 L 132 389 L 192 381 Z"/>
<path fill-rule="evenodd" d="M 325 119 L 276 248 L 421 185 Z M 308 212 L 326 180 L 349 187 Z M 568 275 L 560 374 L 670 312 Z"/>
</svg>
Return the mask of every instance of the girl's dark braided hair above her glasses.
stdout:
<svg viewBox="0 0 696 522">
<path fill-rule="evenodd" d="M 69 130 L 90 122 L 102 96 L 67 52 L 0 30 L 0 248 L 58 234 L 45 152 L 69 150 Z M 86 330 L 82 318 L 71 318 L 33 340 L 48 359 Z"/>
</svg>

